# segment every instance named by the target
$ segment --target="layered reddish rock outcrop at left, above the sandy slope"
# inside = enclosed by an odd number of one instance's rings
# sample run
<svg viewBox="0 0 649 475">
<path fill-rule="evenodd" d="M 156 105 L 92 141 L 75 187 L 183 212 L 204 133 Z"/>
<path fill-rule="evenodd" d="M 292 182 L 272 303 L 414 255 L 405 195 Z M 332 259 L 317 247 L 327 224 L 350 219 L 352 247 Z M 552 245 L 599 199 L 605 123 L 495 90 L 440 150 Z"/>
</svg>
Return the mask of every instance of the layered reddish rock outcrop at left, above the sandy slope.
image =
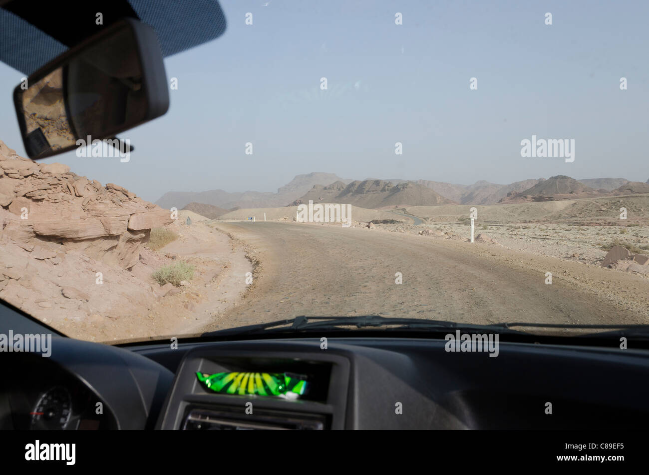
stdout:
<svg viewBox="0 0 649 475">
<path fill-rule="evenodd" d="M 10 240 L 41 260 L 80 250 L 129 269 L 151 228 L 172 221 L 168 210 L 119 185 L 33 162 L 0 141 L 0 243 Z"/>
</svg>

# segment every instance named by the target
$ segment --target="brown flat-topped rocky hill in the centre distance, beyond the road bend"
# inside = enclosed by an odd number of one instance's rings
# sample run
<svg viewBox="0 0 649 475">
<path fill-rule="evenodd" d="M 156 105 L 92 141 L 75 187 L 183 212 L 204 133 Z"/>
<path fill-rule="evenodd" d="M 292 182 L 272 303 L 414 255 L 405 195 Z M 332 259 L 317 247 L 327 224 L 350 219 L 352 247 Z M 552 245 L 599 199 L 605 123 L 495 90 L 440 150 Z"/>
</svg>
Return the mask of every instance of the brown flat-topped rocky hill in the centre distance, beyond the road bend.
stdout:
<svg viewBox="0 0 649 475">
<path fill-rule="evenodd" d="M 288 206 L 317 202 L 353 204 L 360 208 L 377 209 L 386 206 L 433 206 L 454 204 L 434 190 L 416 182 L 393 184 L 387 180 L 353 181 L 345 185 L 340 180 L 327 186 L 313 186 L 300 199 Z"/>
</svg>

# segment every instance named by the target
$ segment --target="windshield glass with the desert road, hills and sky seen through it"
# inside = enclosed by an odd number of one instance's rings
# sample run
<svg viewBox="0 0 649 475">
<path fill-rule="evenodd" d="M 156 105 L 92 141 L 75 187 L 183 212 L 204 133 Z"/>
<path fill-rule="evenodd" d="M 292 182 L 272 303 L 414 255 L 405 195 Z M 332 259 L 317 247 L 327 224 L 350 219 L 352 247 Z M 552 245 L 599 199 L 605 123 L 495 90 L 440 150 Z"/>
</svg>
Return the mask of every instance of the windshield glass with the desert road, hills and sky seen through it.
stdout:
<svg viewBox="0 0 649 475">
<path fill-rule="evenodd" d="M 220 3 L 127 156 L 23 158 L 0 65 L 2 300 L 107 343 L 649 323 L 646 4 Z"/>
</svg>

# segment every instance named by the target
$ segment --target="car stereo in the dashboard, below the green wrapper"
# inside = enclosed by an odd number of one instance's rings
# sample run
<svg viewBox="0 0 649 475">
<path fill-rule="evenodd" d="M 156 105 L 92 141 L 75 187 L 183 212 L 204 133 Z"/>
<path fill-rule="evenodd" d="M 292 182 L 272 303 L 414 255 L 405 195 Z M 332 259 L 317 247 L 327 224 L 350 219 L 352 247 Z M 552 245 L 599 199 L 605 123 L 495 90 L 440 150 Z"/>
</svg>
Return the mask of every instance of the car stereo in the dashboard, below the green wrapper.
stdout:
<svg viewBox="0 0 649 475">
<path fill-rule="evenodd" d="M 228 409 L 189 409 L 183 430 L 324 430 L 326 417 L 284 411 L 258 411 L 243 415 Z"/>
</svg>

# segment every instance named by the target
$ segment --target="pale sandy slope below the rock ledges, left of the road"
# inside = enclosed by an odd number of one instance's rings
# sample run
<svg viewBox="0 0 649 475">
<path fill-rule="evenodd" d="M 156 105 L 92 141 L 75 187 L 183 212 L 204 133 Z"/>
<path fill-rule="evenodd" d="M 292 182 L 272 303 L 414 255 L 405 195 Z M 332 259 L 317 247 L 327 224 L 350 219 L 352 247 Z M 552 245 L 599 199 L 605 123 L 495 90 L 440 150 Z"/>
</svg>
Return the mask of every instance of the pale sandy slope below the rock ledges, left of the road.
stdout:
<svg viewBox="0 0 649 475">
<path fill-rule="evenodd" d="M 188 226 L 185 217 L 180 212 L 178 221 L 167 225 L 178 239 L 156 251 L 143 247 L 140 262 L 130 271 L 104 267 L 101 286 L 95 282 L 96 262 L 81 258 L 78 265 L 68 258 L 69 265 L 59 265 L 58 281 L 67 274 L 67 280 L 89 299 L 76 301 L 77 310 L 67 311 L 64 317 L 43 313 L 43 321 L 69 336 L 107 343 L 200 334 L 201 328 L 241 299 L 252 264 L 243 245 L 196 216 Z M 177 260 L 194 265 L 194 276 L 185 286 L 165 293 L 151 273 Z M 73 303 L 64 297 L 58 300 L 62 306 Z"/>
</svg>

